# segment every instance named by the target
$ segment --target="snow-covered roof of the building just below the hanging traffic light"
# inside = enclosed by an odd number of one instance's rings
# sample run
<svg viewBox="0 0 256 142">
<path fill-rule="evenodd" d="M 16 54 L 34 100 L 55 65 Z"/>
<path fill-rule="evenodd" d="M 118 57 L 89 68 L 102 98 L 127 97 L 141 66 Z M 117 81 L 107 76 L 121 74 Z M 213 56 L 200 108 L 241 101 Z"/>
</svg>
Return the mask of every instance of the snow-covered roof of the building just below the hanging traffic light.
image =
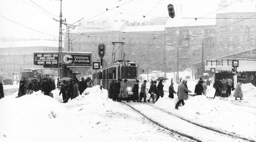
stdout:
<svg viewBox="0 0 256 142">
<path fill-rule="evenodd" d="M 181 16 L 175 16 L 174 18 L 169 18 L 166 23 L 166 27 L 189 27 L 189 26 L 207 26 L 216 25 L 216 19 L 187 19 Z"/>
</svg>

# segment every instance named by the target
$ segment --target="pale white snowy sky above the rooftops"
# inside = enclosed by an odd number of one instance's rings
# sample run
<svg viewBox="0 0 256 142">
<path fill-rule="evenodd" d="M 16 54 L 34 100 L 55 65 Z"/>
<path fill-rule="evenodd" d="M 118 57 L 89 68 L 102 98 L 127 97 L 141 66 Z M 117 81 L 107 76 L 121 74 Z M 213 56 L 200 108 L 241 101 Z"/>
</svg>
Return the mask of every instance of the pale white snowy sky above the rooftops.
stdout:
<svg viewBox="0 0 256 142">
<path fill-rule="evenodd" d="M 60 3 L 60 0 L 0 0 L 0 37 L 58 39 L 59 22 L 53 18 L 60 20 Z M 216 0 L 62 0 L 62 15 L 67 24 L 82 18 L 83 23 L 106 19 L 143 22 L 154 17 L 169 18 L 170 3 L 176 15 L 182 7 L 184 17 L 200 17 L 218 9 Z"/>
</svg>

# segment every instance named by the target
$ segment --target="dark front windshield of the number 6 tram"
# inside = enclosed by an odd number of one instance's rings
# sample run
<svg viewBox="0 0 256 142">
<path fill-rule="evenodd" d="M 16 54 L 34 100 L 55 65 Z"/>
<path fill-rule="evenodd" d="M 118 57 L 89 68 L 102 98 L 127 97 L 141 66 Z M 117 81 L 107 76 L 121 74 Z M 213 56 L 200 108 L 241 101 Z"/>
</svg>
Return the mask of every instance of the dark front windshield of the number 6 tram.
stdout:
<svg viewBox="0 0 256 142">
<path fill-rule="evenodd" d="M 137 68 L 121 67 L 121 76 L 123 79 L 137 79 Z"/>
</svg>

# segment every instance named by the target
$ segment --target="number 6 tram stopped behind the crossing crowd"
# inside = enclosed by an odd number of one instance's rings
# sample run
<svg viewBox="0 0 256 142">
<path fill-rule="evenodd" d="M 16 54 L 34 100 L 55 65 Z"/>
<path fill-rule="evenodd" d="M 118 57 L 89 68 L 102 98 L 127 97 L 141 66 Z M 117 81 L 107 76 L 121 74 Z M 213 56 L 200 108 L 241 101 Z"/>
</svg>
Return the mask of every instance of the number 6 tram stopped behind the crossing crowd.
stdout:
<svg viewBox="0 0 256 142">
<path fill-rule="evenodd" d="M 102 87 L 106 90 L 109 89 L 109 84 L 113 79 L 121 79 L 122 82 L 127 79 L 127 91 L 128 96 L 132 96 L 132 87 L 138 80 L 138 63 L 130 62 L 128 60 L 118 60 L 107 67 L 102 69 L 103 79 Z M 101 74 L 100 70 L 96 71 L 93 74 L 93 80 L 97 81 L 97 84 L 100 84 Z M 121 82 L 121 83 L 122 83 Z"/>
</svg>

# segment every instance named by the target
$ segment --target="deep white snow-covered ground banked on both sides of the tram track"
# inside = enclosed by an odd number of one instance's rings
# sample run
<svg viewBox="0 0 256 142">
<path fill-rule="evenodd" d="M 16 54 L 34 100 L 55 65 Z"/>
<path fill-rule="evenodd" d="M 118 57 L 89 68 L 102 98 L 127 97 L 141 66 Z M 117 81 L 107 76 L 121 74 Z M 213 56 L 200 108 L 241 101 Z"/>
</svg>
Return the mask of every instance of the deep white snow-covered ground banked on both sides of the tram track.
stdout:
<svg viewBox="0 0 256 142">
<path fill-rule="evenodd" d="M 182 73 L 179 73 L 181 77 Z M 187 74 L 184 73 L 185 76 Z M 169 75 L 173 76 L 173 73 L 167 73 L 167 78 L 170 78 Z M 163 84 L 164 90 L 168 91 L 170 80 Z M 192 92 L 195 84 L 195 81 L 188 80 L 188 88 Z M 148 82 L 147 88 L 149 85 Z M 177 88 L 178 85 L 174 84 L 175 91 Z M 194 123 L 256 141 L 256 108 L 239 105 L 255 101 L 256 87 L 242 84 L 242 91 L 244 100 L 237 104 L 233 104 L 232 95 L 226 100 L 220 97 L 208 99 L 202 95 L 190 97 L 185 100 L 184 106 L 176 110 L 174 99 L 177 95 L 170 99 L 166 93 L 153 105 Z M 214 92 L 212 85 L 208 86 L 207 96 L 212 97 Z M 0 141 L 188 141 L 153 126 L 124 104 L 113 102 L 107 97 L 107 91 L 100 90 L 98 85 L 87 88 L 81 96 L 65 104 L 62 103 L 62 96 L 58 95 L 59 90 L 52 93 L 54 98 L 41 92 L 15 98 L 18 94 L 15 92 L 0 99 Z"/>
</svg>

